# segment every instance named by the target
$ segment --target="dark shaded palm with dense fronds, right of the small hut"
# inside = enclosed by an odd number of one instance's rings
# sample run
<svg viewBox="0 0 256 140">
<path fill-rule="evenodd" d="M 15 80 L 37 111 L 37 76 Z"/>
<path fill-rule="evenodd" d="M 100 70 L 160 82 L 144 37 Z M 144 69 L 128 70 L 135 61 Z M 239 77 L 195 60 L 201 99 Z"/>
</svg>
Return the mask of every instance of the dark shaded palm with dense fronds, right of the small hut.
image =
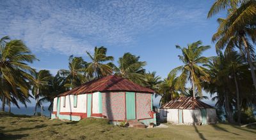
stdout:
<svg viewBox="0 0 256 140">
<path fill-rule="evenodd" d="M 207 66 L 209 67 L 211 81 L 207 83 L 209 87 L 205 87 L 205 90 L 208 90 L 211 94 L 217 93 L 217 97 L 213 99 L 220 101 L 218 102 L 219 107 L 225 106 L 225 109 L 232 110 L 230 108 L 236 106 L 237 122 L 240 123 L 241 93 L 249 92 L 247 88 L 243 87 L 252 88 L 248 86 L 248 83 L 250 83 L 250 80 L 248 80 L 248 73 L 250 73 L 247 68 L 248 64 L 244 62 L 244 59 L 237 52 L 228 52 L 224 55 L 220 52 L 219 56 Z M 246 85 L 244 85 L 244 81 L 247 81 Z M 232 122 L 232 119 L 230 119 L 232 118 L 231 111 L 227 111 L 226 114 L 229 115 L 228 118 Z"/>
</svg>

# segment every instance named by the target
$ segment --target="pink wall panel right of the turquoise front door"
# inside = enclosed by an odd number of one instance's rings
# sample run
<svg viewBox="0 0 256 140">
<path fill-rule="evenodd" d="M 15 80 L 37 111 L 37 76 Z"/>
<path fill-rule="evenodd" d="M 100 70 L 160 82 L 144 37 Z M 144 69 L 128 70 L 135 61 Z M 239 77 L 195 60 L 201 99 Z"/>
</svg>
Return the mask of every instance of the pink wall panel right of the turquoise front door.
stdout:
<svg viewBox="0 0 256 140">
<path fill-rule="evenodd" d="M 137 119 L 151 118 L 151 94 L 136 93 L 136 116 Z"/>
</svg>

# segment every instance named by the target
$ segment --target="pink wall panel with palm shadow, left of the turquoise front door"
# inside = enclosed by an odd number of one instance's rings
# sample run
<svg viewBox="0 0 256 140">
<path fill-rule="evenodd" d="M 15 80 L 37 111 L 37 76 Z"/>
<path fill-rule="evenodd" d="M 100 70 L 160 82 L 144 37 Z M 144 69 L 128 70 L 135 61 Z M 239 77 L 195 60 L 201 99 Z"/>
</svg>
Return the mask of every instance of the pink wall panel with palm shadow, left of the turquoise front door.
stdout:
<svg viewBox="0 0 256 140">
<path fill-rule="evenodd" d="M 102 115 L 109 120 L 125 120 L 125 93 L 102 93 Z"/>
</svg>

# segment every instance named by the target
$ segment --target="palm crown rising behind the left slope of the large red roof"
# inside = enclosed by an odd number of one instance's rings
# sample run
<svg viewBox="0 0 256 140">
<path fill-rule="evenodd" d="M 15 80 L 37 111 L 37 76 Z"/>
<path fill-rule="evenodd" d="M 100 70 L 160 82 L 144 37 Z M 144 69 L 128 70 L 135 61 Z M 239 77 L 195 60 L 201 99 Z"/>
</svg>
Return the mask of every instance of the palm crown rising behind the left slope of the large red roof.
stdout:
<svg viewBox="0 0 256 140">
<path fill-rule="evenodd" d="M 68 70 L 60 69 L 58 75 L 65 79 L 65 87 L 75 88 L 87 80 L 84 75 L 86 62 L 82 57 L 74 57 L 73 55 L 70 55 L 68 61 Z"/>
</svg>

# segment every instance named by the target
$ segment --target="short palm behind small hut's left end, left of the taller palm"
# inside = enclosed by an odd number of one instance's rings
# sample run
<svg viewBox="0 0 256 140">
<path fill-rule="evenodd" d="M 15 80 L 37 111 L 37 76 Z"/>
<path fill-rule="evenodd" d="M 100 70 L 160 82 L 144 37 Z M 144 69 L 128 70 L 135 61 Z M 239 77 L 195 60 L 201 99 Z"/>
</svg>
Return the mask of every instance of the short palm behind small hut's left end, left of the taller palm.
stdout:
<svg viewBox="0 0 256 140">
<path fill-rule="evenodd" d="M 162 95 L 159 104 L 165 104 L 175 97 L 179 97 L 179 90 L 177 90 L 177 75 L 175 73 L 169 74 L 168 78 L 159 84 L 159 93 Z"/>
</svg>

